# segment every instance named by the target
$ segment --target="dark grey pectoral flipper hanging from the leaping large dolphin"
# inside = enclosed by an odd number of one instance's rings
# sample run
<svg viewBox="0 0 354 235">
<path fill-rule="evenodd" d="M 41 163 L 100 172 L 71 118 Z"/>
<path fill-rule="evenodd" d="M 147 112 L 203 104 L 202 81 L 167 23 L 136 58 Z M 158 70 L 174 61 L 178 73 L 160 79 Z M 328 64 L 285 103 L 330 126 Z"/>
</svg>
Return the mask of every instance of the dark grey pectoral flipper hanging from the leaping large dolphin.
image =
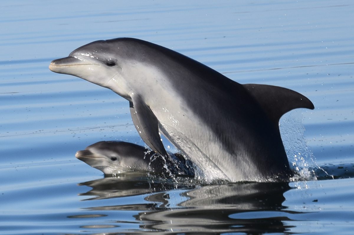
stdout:
<svg viewBox="0 0 354 235">
<path fill-rule="evenodd" d="M 159 124 L 154 113 L 140 97 L 135 96 L 132 100 L 133 102 L 129 102 L 130 114 L 140 137 L 154 152 L 166 156 L 167 152 L 161 142 Z"/>
</svg>

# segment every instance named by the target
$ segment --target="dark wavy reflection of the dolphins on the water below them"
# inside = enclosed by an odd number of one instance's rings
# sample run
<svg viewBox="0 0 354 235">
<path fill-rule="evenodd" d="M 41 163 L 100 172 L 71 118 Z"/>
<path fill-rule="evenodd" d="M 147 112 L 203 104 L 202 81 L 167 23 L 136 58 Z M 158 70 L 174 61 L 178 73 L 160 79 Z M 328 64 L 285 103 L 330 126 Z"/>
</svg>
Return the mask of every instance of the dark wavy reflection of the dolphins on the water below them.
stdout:
<svg viewBox="0 0 354 235">
<path fill-rule="evenodd" d="M 160 233 L 286 233 L 293 227 L 288 223 L 291 221 L 288 215 L 298 213 L 287 211 L 282 206 L 285 201 L 284 192 L 291 189 L 286 182 L 198 186 L 185 179 L 176 183 L 122 175 L 119 178 L 109 177 L 80 185 L 92 188 L 80 194 L 93 196 L 91 199 L 146 195 L 141 203 L 107 204 L 86 209 L 98 214 L 110 214 L 108 211 L 137 211 L 133 217 L 139 229 Z M 112 203 L 112 200 L 107 203 Z M 124 223 L 119 218 L 109 220 L 115 221 L 118 226 Z M 88 228 L 89 225 L 85 226 Z M 117 231 L 110 230 L 105 234 L 116 233 Z"/>
</svg>

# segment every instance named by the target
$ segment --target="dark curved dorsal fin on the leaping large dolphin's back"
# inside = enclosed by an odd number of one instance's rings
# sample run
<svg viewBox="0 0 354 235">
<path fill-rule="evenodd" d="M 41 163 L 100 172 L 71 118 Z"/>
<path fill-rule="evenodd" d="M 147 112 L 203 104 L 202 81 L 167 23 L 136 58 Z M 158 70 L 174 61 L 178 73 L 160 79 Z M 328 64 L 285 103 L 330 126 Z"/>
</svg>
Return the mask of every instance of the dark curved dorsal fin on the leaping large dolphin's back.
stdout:
<svg viewBox="0 0 354 235">
<path fill-rule="evenodd" d="M 297 108 L 314 109 L 313 103 L 304 95 L 284 87 L 243 84 L 255 100 L 261 104 L 270 120 L 278 126 L 280 117 Z"/>
</svg>

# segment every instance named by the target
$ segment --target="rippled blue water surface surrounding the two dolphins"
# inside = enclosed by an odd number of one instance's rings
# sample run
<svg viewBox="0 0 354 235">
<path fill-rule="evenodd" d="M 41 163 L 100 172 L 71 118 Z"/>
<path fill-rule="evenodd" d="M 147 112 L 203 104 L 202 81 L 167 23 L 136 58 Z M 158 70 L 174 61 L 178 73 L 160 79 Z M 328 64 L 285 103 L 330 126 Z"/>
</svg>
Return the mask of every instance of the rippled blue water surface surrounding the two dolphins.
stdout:
<svg viewBox="0 0 354 235">
<path fill-rule="evenodd" d="M 0 234 L 353 234 L 353 1 L 18 0 L 0 9 Z M 315 109 L 280 121 L 298 179 L 104 177 L 76 159 L 102 140 L 144 145 L 126 100 L 48 69 L 117 37 L 306 95 Z"/>
</svg>

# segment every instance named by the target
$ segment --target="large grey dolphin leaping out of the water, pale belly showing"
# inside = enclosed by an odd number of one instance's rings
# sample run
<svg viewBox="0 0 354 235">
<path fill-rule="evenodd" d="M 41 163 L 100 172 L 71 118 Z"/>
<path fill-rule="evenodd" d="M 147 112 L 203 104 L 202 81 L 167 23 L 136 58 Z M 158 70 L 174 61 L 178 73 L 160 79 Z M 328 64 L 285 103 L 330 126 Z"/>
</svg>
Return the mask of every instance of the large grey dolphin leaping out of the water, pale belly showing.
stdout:
<svg viewBox="0 0 354 235">
<path fill-rule="evenodd" d="M 290 89 L 240 84 L 176 51 L 134 38 L 86 44 L 49 68 L 127 99 L 143 141 L 166 156 L 162 133 L 207 181 L 291 177 L 279 119 L 295 108 L 314 109 Z"/>
</svg>

